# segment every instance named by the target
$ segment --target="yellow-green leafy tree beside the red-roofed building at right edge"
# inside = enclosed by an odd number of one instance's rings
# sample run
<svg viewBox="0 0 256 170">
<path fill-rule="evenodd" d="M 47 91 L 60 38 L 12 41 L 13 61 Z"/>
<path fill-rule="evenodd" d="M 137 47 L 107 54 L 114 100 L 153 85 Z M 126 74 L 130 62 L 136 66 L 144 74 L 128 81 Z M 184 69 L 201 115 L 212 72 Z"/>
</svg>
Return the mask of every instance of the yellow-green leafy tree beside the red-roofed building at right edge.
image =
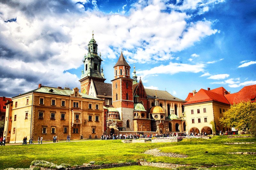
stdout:
<svg viewBox="0 0 256 170">
<path fill-rule="evenodd" d="M 223 113 L 220 123 L 227 127 L 235 127 L 239 130 L 251 131 L 256 124 L 256 103 L 241 102 L 230 106 L 228 111 Z M 254 128 L 256 130 L 256 127 Z M 252 131 L 251 131 L 252 132 Z"/>
</svg>

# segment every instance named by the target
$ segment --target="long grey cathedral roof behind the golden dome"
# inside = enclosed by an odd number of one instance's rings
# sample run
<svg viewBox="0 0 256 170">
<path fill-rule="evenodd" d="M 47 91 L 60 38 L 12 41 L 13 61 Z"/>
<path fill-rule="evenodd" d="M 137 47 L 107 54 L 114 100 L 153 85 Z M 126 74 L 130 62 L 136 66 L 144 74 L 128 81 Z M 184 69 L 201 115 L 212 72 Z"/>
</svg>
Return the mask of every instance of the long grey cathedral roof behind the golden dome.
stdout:
<svg viewBox="0 0 256 170">
<path fill-rule="evenodd" d="M 162 100 L 170 100 L 170 101 L 177 101 L 177 102 L 186 102 L 185 100 L 181 100 L 175 96 L 172 96 L 167 91 L 163 90 L 154 90 L 154 89 L 145 89 L 148 98 L 154 99 L 157 96 L 158 99 Z"/>
</svg>

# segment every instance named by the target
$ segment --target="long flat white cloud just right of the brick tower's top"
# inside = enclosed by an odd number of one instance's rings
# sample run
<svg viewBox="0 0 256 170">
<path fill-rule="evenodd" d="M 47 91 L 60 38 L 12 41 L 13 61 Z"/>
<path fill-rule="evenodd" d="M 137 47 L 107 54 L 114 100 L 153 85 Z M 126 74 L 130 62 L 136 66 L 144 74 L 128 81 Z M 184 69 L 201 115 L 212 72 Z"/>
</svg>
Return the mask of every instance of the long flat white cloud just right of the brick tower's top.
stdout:
<svg viewBox="0 0 256 170">
<path fill-rule="evenodd" d="M 169 65 L 160 65 L 158 67 L 153 67 L 150 70 L 140 70 L 137 71 L 136 74 L 142 75 L 142 77 L 151 76 L 154 74 L 176 74 L 180 72 L 188 72 L 188 73 L 198 73 L 204 71 L 204 64 L 180 64 L 180 63 L 172 63 L 170 62 Z"/>
</svg>

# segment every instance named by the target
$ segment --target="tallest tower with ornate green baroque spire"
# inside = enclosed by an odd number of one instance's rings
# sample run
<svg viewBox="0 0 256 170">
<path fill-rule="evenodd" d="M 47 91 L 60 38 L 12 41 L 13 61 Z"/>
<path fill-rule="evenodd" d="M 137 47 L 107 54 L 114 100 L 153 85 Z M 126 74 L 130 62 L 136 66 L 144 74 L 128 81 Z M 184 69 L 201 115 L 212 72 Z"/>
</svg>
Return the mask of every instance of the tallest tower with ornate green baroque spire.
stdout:
<svg viewBox="0 0 256 170">
<path fill-rule="evenodd" d="M 88 53 L 84 55 L 84 69 L 82 71 L 81 79 L 79 80 L 81 83 L 81 92 L 88 95 L 91 81 L 100 81 L 104 82 L 103 69 L 100 72 L 101 65 L 101 54 L 98 55 L 97 48 L 98 45 L 93 37 L 88 44 Z"/>
</svg>

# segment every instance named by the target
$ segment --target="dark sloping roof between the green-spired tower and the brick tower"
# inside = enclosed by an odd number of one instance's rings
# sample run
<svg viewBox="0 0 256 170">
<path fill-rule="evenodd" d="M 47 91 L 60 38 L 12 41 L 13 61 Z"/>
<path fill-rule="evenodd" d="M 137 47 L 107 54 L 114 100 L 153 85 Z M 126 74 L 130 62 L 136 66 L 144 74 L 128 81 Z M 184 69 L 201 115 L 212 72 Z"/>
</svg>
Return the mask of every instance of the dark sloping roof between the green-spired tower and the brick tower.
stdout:
<svg viewBox="0 0 256 170">
<path fill-rule="evenodd" d="M 93 81 L 97 97 L 112 98 L 112 84 Z"/>
</svg>

